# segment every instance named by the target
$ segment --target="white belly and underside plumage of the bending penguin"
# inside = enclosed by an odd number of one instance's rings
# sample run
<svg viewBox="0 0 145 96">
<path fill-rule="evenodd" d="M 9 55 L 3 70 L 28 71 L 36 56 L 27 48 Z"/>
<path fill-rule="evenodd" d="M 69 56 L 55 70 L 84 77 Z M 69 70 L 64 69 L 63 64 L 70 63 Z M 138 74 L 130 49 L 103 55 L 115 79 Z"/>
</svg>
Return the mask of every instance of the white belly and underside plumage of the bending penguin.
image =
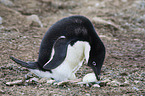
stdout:
<svg viewBox="0 0 145 96">
<path fill-rule="evenodd" d="M 54 78 L 56 81 L 74 80 L 75 73 L 82 66 L 84 58 L 88 61 L 90 45 L 87 42 L 78 41 L 73 46 L 68 45 L 65 60 L 57 68 L 50 72 L 32 70 L 33 73 L 40 77 Z"/>
</svg>

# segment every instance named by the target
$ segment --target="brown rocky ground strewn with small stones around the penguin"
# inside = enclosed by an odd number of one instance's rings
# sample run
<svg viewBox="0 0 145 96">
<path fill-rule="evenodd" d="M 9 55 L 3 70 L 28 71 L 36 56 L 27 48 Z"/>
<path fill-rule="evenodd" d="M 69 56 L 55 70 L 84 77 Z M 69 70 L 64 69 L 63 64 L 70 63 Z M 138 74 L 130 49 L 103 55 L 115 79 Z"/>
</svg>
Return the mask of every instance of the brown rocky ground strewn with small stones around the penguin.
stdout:
<svg viewBox="0 0 145 96">
<path fill-rule="evenodd" d="M 99 86 L 48 84 L 44 78 L 36 76 L 33 76 L 33 82 L 6 85 L 22 80 L 29 72 L 11 61 L 9 56 L 36 61 L 47 29 L 57 20 L 71 15 L 88 17 L 106 46 Z M 144 41 L 144 0 L 0 0 L 0 95 L 144 96 Z M 83 78 L 91 72 L 83 64 L 76 75 Z"/>
</svg>

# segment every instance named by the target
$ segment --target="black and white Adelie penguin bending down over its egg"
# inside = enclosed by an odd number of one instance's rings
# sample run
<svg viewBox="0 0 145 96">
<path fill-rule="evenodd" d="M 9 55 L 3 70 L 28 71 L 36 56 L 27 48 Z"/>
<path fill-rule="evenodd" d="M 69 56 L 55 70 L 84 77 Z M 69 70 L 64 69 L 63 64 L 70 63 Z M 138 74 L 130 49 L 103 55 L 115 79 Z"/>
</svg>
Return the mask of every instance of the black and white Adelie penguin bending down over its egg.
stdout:
<svg viewBox="0 0 145 96">
<path fill-rule="evenodd" d="M 70 16 L 52 25 L 44 35 L 37 62 L 13 61 L 40 77 L 57 81 L 76 79 L 84 59 L 99 80 L 105 47 L 92 23 L 84 16 Z"/>
</svg>

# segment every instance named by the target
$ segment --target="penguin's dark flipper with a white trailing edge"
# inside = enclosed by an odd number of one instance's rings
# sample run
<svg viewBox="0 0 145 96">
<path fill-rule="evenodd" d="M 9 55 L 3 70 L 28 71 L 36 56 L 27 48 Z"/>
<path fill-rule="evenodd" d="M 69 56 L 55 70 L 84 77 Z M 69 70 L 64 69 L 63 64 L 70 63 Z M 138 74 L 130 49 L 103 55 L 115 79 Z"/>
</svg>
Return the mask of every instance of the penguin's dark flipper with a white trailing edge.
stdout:
<svg viewBox="0 0 145 96">
<path fill-rule="evenodd" d="M 60 36 L 54 43 L 54 55 L 44 66 L 46 70 L 51 70 L 58 67 L 65 59 L 67 54 L 67 47 L 71 40 L 65 38 L 65 36 Z"/>
</svg>

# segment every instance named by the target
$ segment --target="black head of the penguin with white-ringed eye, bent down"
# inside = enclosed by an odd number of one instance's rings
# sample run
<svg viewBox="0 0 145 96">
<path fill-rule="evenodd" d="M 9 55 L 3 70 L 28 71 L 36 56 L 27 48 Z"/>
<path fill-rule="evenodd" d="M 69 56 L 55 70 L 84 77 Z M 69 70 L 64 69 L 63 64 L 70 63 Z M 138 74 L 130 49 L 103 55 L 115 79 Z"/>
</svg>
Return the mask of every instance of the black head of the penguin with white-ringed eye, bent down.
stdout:
<svg viewBox="0 0 145 96">
<path fill-rule="evenodd" d="M 105 59 L 105 47 L 104 44 L 100 41 L 95 45 L 91 46 L 90 50 L 90 58 L 88 62 L 88 66 L 90 66 L 95 75 L 97 80 L 100 80 L 100 72 Z"/>
</svg>

